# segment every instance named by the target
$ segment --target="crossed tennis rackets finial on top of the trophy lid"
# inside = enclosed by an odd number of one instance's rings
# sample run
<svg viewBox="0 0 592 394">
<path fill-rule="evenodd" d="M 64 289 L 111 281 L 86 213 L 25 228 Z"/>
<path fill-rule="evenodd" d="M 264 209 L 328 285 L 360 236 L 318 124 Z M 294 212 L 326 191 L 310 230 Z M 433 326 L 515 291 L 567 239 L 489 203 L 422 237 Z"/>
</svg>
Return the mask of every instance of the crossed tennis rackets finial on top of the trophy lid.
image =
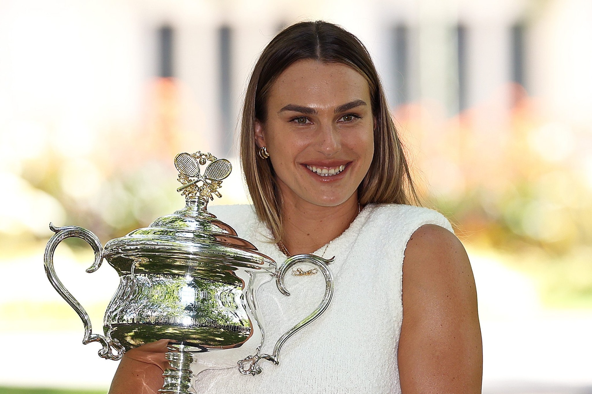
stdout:
<svg viewBox="0 0 592 394">
<path fill-rule="evenodd" d="M 210 162 L 201 175 L 200 166 Z M 175 167 L 179 171 L 177 180 L 183 186 L 177 189 L 186 198 L 199 197 L 205 201 L 213 200 L 213 195 L 221 197 L 218 189 L 222 180 L 230 175 L 232 164 L 226 159 L 216 159 L 208 153 L 179 153 L 175 156 Z"/>
</svg>

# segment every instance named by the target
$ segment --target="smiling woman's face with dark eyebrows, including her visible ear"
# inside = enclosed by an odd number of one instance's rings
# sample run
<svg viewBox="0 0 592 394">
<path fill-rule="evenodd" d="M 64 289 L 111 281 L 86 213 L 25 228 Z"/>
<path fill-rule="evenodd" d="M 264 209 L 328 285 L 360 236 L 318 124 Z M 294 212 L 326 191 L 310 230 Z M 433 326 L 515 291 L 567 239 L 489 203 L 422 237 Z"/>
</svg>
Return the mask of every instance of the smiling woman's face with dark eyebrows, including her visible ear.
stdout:
<svg viewBox="0 0 592 394">
<path fill-rule="evenodd" d="M 352 198 L 374 155 L 366 79 L 345 64 L 300 60 L 279 75 L 266 104 L 256 142 L 269 152 L 283 198 L 320 206 Z"/>
</svg>

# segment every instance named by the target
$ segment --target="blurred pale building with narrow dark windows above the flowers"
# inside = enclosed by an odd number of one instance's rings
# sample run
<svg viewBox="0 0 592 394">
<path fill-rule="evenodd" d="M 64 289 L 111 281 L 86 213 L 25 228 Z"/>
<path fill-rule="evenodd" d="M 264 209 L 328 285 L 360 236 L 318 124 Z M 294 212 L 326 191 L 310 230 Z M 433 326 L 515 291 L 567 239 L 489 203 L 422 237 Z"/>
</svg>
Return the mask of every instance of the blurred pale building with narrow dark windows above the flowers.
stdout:
<svg viewBox="0 0 592 394">
<path fill-rule="evenodd" d="M 516 82 L 559 117 L 592 117 L 583 93 L 590 77 L 579 72 L 592 62 L 585 0 L 373 0 L 363 7 L 342 0 L 3 0 L 0 7 L 4 133 L 33 120 L 53 124 L 63 138 L 112 127 L 145 133 L 145 119 L 160 116 L 177 122 L 180 134 L 160 130 L 162 138 L 197 134 L 189 141 L 224 156 L 259 51 L 285 25 L 317 18 L 362 39 L 393 106 L 433 100 L 453 115 Z M 175 92 L 155 86 L 158 77 L 175 78 Z M 155 108 L 163 105 L 155 93 L 175 96 L 174 114 Z M 79 131 L 63 131 L 70 129 Z"/>
</svg>

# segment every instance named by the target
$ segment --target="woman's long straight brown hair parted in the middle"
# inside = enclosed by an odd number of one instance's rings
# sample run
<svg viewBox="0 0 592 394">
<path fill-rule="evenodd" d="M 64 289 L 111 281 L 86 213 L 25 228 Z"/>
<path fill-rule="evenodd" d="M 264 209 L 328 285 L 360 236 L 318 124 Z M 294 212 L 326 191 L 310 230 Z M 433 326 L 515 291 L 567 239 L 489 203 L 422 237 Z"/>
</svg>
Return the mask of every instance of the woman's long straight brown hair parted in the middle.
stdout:
<svg viewBox="0 0 592 394">
<path fill-rule="evenodd" d="M 282 30 L 265 47 L 247 86 L 242 112 L 240 160 L 260 221 L 282 239 L 282 198 L 270 160 L 257 156 L 255 122 L 266 120 L 266 99 L 276 78 L 292 63 L 313 59 L 352 67 L 368 80 L 374 128 L 374 158 L 358 186 L 358 200 L 369 203 L 419 204 L 403 146 L 388 109 L 378 73 L 361 41 L 342 27 L 324 21 L 300 22 Z"/>
</svg>

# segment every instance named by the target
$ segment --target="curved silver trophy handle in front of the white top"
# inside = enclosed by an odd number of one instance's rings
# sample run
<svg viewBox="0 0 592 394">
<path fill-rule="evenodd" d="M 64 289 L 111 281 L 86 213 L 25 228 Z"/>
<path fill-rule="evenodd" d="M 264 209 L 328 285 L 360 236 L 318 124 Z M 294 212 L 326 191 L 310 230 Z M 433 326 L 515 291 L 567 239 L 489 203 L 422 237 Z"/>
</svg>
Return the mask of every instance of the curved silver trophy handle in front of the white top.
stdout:
<svg viewBox="0 0 592 394">
<path fill-rule="evenodd" d="M 274 353 L 273 354 L 259 354 L 259 352 L 255 356 L 249 356 L 244 360 L 239 361 L 239 371 L 242 374 L 252 374 L 255 376 L 256 374 L 261 373 L 261 367 L 259 366 L 259 361 L 261 359 L 272 361 L 274 364 L 279 364 L 279 351 L 282 349 L 284 343 L 288 340 L 289 337 L 294 335 L 296 332 L 300 331 L 302 328 L 306 327 L 311 322 L 315 321 L 329 306 L 331 299 L 333 298 L 333 274 L 329 270 L 327 264 L 331 263 L 334 260 L 334 257 L 331 259 L 323 259 L 322 257 L 315 256 L 314 254 L 297 254 L 296 256 L 288 257 L 284 264 L 279 267 L 279 269 L 275 272 L 275 281 L 276 285 L 278 286 L 279 291 L 284 293 L 285 295 L 290 295 L 288 289 L 284 284 L 284 277 L 285 274 L 297 264 L 301 263 L 308 263 L 316 266 L 325 278 L 325 295 L 323 296 L 323 300 L 317 306 L 317 309 L 305 317 L 303 321 L 292 327 L 288 332 L 284 335 L 279 337 L 279 340 L 275 343 Z M 265 339 L 264 339 L 265 340 Z M 261 347 L 259 347 L 261 348 Z"/>
</svg>

